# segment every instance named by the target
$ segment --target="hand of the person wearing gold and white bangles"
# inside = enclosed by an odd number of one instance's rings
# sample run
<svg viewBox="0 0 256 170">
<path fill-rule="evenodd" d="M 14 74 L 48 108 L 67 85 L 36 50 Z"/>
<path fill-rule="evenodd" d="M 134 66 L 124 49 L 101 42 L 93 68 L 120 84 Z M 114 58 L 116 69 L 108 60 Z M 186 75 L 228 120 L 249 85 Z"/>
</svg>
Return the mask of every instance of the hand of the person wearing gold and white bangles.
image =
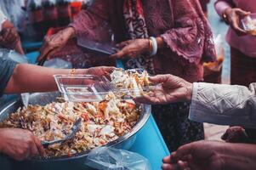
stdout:
<svg viewBox="0 0 256 170">
<path fill-rule="evenodd" d="M 117 48 L 122 48 L 117 54 L 112 54 L 111 57 L 115 59 L 122 59 L 125 57 L 135 58 L 139 54 L 144 54 L 150 50 L 149 39 L 134 39 L 117 44 Z"/>
</svg>

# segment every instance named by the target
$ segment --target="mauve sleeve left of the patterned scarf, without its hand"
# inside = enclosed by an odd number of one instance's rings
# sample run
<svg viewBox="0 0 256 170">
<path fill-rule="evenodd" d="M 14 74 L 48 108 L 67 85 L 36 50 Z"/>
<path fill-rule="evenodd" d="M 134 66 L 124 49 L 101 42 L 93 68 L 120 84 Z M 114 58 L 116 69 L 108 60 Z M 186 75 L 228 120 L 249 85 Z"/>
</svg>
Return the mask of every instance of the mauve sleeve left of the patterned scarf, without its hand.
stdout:
<svg viewBox="0 0 256 170">
<path fill-rule="evenodd" d="M 94 0 L 94 3 L 87 9 L 82 10 L 71 23 L 78 36 L 96 36 L 96 30 L 103 26 L 104 21 L 109 20 L 109 1 Z"/>
</svg>

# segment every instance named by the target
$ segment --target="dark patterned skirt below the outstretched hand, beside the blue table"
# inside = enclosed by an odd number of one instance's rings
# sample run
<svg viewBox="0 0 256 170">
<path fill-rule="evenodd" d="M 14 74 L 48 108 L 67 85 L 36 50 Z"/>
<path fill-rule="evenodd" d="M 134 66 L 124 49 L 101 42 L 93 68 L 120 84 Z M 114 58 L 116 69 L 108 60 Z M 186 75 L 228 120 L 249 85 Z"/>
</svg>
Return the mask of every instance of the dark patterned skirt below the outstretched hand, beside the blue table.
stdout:
<svg viewBox="0 0 256 170">
<path fill-rule="evenodd" d="M 203 125 L 188 119 L 190 105 L 185 103 L 172 105 L 153 105 L 152 113 L 162 137 L 170 151 L 179 146 L 204 139 Z"/>
</svg>

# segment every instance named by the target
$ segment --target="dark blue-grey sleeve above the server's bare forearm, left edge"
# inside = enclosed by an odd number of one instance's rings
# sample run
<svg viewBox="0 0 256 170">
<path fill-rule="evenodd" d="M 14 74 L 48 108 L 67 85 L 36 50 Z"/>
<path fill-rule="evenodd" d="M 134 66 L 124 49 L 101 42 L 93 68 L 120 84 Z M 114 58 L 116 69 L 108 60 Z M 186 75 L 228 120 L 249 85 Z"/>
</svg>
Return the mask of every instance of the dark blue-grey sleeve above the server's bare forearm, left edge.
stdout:
<svg viewBox="0 0 256 170">
<path fill-rule="evenodd" d="M 0 58 L 0 97 L 3 95 L 4 89 L 13 75 L 14 68 L 17 63 L 10 59 Z"/>
</svg>

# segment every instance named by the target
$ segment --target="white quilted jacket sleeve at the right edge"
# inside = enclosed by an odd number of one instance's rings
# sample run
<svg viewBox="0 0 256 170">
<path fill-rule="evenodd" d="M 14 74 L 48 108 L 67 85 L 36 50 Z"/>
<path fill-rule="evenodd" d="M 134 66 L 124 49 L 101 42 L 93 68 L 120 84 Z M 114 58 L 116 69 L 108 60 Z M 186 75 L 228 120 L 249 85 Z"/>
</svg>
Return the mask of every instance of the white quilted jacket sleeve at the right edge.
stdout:
<svg viewBox="0 0 256 170">
<path fill-rule="evenodd" d="M 256 83 L 250 88 L 194 83 L 191 121 L 256 127 Z"/>
</svg>

